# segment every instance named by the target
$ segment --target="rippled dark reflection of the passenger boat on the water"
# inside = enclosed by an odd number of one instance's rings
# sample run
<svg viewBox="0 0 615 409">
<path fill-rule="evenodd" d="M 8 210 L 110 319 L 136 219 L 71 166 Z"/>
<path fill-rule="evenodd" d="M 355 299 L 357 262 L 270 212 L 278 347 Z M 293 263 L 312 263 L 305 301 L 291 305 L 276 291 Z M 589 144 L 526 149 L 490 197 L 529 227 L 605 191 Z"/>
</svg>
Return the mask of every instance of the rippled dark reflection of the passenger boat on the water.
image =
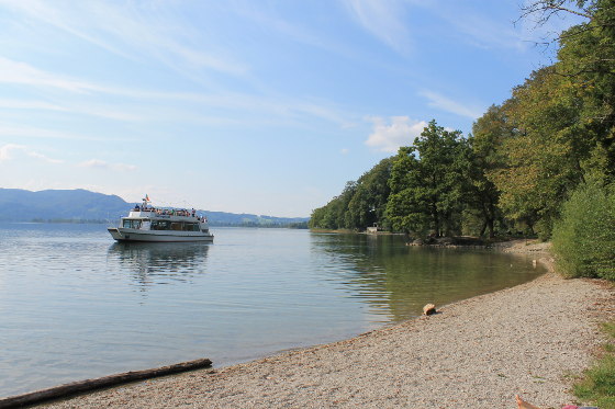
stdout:
<svg viewBox="0 0 615 409">
<path fill-rule="evenodd" d="M 130 271 L 139 286 L 189 282 L 204 274 L 210 245 L 204 242 L 115 242 L 108 262 Z"/>
</svg>

